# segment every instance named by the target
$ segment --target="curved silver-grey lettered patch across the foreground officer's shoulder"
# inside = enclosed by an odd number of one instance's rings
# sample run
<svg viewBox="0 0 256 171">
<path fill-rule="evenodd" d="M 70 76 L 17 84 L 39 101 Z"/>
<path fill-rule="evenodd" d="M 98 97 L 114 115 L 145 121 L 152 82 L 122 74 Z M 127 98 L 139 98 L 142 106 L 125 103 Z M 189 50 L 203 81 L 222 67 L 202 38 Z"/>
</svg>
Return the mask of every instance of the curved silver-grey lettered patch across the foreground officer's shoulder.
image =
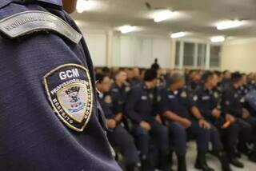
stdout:
<svg viewBox="0 0 256 171">
<path fill-rule="evenodd" d="M 17 38 L 42 30 L 54 31 L 76 44 L 82 38 L 82 35 L 62 20 L 62 18 L 40 10 L 30 10 L 14 14 L 0 21 L 0 31 L 10 38 Z"/>
</svg>

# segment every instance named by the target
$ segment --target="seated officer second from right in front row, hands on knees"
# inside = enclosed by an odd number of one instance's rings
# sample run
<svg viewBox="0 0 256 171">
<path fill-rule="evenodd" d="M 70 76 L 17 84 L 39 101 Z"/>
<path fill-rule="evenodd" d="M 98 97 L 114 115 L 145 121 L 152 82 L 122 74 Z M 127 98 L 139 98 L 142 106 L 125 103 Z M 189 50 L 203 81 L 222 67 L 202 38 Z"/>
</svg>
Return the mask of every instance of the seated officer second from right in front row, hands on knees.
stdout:
<svg viewBox="0 0 256 171">
<path fill-rule="evenodd" d="M 202 76 L 202 82 L 204 84 L 196 91 L 194 100 L 196 101 L 202 116 L 219 130 L 219 133 L 218 130 L 217 132 L 212 132 L 214 152 L 217 151 L 218 157 L 221 157 L 220 155 L 224 154 L 219 152 L 224 148 L 230 163 L 239 168 L 243 168 L 242 163 L 237 160 L 234 153 L 238 141 L 238 125 L 234 123 L 235 119 L 232 115 L 229 113 L 222 113 L 218 106 L 219 94 L 217 89 L 214 89 L 218 84 L 218 77 L 213 72 L 207 71 Z M 212 129 L 216 129 L 214 126 L 212 126 Z M 221 137 L 222 142 L 219 141 L 219 137 Z M 223 157 L 221 158 L 222 163 L 224 162 L 224 159 L 225 158 Z M 229 167 L 223 169 L 230 170 Z"/>
</svg>

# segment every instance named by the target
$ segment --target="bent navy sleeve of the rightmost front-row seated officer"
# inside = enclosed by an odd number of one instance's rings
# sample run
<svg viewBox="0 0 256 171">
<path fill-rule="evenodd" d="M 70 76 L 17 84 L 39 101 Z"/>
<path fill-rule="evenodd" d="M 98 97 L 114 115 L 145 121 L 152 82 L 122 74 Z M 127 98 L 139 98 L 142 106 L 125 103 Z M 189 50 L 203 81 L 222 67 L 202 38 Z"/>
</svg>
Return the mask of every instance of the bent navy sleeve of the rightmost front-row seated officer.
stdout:
<svg viewBox="0 0 256 171">
<path fill-rule="evenodd" d="M 242 108 L 234 106 L 234 94 L 229 91 L 225 91 L 222 94 L 222 112 L 230 113 L 235 117 L 242 116 Z"/>
</svg>

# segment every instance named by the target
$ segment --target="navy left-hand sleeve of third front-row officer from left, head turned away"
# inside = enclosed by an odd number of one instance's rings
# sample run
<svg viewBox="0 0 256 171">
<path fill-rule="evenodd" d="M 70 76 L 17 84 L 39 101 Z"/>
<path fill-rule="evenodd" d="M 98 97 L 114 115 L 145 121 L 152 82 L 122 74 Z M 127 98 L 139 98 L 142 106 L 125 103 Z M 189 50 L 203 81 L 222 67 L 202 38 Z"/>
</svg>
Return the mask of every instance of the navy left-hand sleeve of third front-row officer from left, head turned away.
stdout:
<svg viewBox="0 0 256 171">
<path fill-rule="evenodd" d="M 131 89 L 127 95 L 125 107 L 127 116 L 137 124 L 142 121 L 142 117 L 140 117 L 139 114 L 135 111 L 135 107 L 137 105 L 136 102 L 138 101 L 139 97 L 139 91 L 136 89 Z"/>
</svg>

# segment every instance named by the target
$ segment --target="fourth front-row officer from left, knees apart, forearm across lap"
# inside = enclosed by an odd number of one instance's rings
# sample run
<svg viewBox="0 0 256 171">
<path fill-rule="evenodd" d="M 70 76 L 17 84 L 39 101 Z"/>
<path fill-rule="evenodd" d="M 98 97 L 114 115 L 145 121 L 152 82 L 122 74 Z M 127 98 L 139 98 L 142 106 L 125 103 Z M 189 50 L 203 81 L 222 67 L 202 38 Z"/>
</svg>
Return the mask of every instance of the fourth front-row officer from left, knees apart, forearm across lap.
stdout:
<svg viewBox="0 0 256 171">
<path fill-rule="evenodd" d="M 210 124 L 203 119 L 184 87 L 181 74 L 173 74 L 168 88 L 162 91 L 162 113 L 167 120 L 174 150 L 178 157 L 178 171 L 186 171 L 186 137 L 190 133 L 196 137 L 198 157 L 195 168 L 211 171 L 206 163 L 206 153 L 210 141 Z M 190 114 L 192 113 L 192 115 Z"/>
</svg>

